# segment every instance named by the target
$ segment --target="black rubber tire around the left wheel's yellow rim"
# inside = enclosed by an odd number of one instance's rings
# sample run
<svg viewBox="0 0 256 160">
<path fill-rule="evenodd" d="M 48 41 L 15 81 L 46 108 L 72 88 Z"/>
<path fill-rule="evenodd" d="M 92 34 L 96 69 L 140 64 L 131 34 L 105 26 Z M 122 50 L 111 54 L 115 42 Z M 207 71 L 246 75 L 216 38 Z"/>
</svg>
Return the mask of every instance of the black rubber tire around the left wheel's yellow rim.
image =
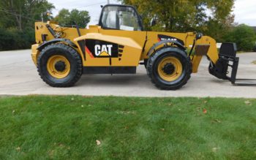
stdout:
<svg viewBox="0 0 256 160">
<path fill-rule="evenodd" d="M 64 56 L 67 58 L 70 64 L 70 72 L 66 77 L 58 79 L 50 75 L 47 63 L 51 56 Z M 37 71 L 42 80 L 50 86 L 59 88 L 71 87 L 78 82 L 83 74 L 82 59 L 78 52 L 68 45 L 62 43 L 48 45 L 37 58 Z"/>
</svg>

